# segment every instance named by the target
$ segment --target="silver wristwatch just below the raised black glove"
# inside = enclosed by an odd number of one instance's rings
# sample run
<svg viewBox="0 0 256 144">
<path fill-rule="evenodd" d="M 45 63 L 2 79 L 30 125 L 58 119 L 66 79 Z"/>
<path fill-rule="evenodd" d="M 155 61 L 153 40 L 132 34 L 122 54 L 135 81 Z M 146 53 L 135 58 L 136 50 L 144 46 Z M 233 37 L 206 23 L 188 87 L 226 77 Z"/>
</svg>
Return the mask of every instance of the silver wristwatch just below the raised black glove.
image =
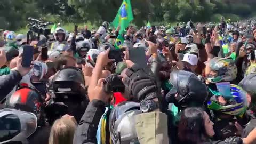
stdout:
<svg viewBox="0 0 256 144">
<path fill-rule="evenodd" d="M 140 103 L 140 110 L 142 113 L 148 113 L 159 108 L 158 102 L 154 100 L 142 100 Z"/>
</svg>

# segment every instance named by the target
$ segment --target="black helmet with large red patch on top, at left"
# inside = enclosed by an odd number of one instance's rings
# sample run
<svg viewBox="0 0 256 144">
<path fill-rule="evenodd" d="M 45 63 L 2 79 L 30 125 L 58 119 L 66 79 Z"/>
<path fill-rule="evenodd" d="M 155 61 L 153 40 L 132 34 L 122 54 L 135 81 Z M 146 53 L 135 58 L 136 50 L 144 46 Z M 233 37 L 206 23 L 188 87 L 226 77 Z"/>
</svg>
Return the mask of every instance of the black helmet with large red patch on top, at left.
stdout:
<svg viewBox="0 0 256 144">
<path fill-rule="evenodd" d="M 10 97 L 7 97 L 5 107 L 33 113 L 39 120 L 42 117 L 43 97 L 33 87 L 20 87 Z"/>
</svg>

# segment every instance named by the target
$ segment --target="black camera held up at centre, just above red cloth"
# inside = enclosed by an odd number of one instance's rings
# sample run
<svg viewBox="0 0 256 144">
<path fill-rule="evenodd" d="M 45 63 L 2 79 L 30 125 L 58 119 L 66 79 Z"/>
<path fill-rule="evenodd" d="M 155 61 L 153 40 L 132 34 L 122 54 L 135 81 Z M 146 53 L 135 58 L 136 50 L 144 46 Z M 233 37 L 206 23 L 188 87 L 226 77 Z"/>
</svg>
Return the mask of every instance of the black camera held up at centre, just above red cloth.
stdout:
<svg viewBox="0 0 256 144">
<path fill-rule="evenodd" d="M 124 92 L 125 89 L 121 77 L 118 77 L 117 74 L 106 77 L 105 81 L 103 81 L 103 84 L 104 90 L 108 94 L 112 92 Z"/>
</svg>

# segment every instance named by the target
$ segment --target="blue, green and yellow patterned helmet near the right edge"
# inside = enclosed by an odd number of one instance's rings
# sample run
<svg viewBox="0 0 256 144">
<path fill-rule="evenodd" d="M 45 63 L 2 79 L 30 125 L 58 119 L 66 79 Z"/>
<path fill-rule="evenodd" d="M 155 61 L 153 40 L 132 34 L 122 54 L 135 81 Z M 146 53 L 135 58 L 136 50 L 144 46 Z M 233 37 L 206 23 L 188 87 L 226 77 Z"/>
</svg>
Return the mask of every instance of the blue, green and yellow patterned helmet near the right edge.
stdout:
<svg viewBox="0 0 256 144">
<path fill-rule="evenodd" d="M 230 83 L 217 83 L 216 85 L 218 91 L 213 93 L 214 95 L 207 103 L 208 108 L 223 114 L 243 116 L 247 109 L 246 91 L 242 87 Z M 230 87 L 230 90 L 222 89 L 227 86 Z M 220 101 L 220 97 L 225 99 L 225 103 L 223 100 Z"/>
</svg>

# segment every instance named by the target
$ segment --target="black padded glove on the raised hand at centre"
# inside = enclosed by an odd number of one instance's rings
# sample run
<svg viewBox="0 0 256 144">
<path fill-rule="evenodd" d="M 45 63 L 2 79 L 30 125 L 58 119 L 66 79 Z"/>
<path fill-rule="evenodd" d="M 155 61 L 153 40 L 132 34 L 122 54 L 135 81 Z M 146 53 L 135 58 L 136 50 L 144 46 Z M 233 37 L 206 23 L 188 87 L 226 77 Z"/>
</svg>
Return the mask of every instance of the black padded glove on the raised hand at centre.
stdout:
<svg viewBox="0 0 256 144">
<path fill-rule="evenodd" d="M 155 79 L 147 74 L 139 65 L 134 64 L 126 71 L 127 77 L 123 79 L 125 96 L 127 99 L 142 101 L 157 97 Z"/>
</svg>

